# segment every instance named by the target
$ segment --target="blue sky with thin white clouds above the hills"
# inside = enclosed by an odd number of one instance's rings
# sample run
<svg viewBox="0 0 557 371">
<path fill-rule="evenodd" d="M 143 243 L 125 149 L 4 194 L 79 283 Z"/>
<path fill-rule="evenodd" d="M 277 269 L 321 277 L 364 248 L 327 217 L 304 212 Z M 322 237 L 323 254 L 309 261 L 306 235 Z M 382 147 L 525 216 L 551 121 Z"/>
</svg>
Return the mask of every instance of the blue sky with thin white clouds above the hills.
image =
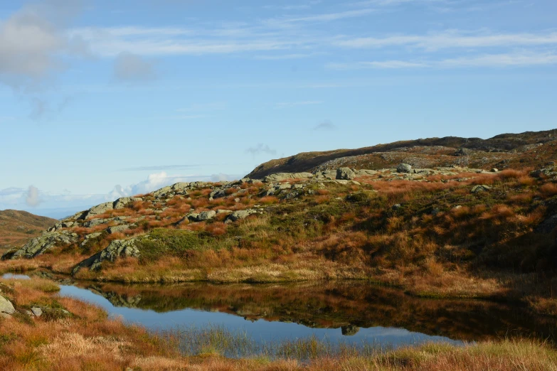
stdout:
<svg viewBox="0 0 557 371">
<path fill-rule="evenodd" d="M 554 0 L 0 2 L 0 210 L 557 127 Z"/>
</svg>

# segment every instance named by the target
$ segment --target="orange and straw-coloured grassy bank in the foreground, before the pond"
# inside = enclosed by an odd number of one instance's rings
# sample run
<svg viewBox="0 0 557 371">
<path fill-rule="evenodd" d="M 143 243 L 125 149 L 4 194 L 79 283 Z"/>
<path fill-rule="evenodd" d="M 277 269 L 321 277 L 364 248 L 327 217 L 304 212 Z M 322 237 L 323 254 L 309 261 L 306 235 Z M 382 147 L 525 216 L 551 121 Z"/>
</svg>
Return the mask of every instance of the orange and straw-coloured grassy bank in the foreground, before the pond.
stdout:
<svg viewBox="0 0 557 371">
<path fill-rule="evenodd" d="M 0 319 L 2 370 L 557 370 L 556 350 L 534 340 L 381 350 L 312 338 L 261 345 L 221 328 L 155 335 L 56 296 L 49 281 L 1 280 L 0 287 L 21 312 Z M 28 316 L 32 306 L 51 314 Z"/>
</svg>

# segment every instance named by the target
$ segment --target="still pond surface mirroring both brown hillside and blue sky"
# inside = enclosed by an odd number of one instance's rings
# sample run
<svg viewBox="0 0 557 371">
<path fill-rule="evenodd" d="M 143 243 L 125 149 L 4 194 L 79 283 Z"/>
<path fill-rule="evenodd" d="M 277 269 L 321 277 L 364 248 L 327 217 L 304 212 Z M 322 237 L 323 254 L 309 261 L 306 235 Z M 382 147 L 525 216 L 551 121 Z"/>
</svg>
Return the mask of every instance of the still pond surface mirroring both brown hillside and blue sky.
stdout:
<svg viewBox="0 0 557 371">
<path fill-rule="evenodd" d="M 516 335 L 553 339 L 556 325 L 506 304 L 415 299 L 364 282 L 78 286 L 62 286 L 60 294 L 147 328 L 213 324 L 265 341 L 315 336 L 397 346 Z"/>
</svg>

